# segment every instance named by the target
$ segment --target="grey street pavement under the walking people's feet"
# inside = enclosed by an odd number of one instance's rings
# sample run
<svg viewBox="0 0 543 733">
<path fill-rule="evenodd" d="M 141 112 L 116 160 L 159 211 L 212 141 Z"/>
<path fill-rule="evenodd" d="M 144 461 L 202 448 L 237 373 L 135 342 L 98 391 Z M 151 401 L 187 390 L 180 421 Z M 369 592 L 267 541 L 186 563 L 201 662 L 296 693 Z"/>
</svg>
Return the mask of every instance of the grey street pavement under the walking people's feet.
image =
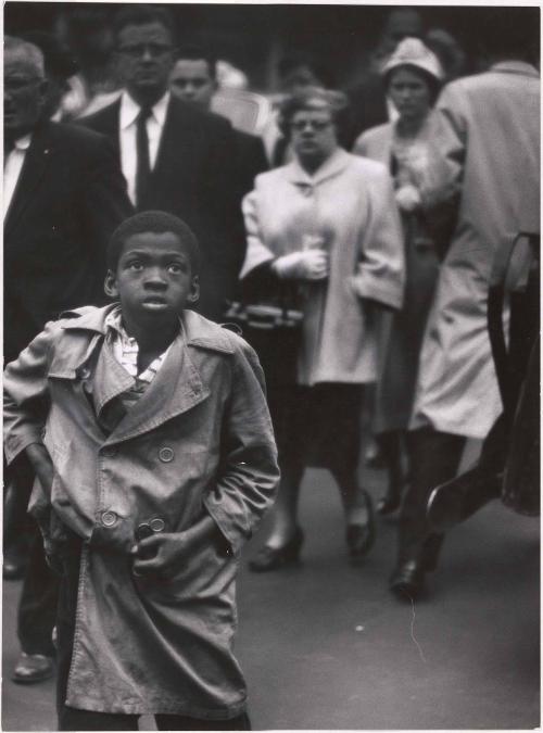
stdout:
<svg viewBox="0 0 543 733">
<path fill-rule="evenodd" d="M 365 469 L 377 498 L 382 471 Z M 302 561 L 238 584 L 236 650 L 255 730 L 529 730 L 540 726 L 540 522 L 493 502 L 447 539 L 428 594 L 397 602 L 387 580 L 397 526 L 350 565 L 342 509 L 326 471 L 308 470 Z M 10 681 L 20 583 L 3 584 L 4 731 L 54 731 L 54 681 Z M 151 718 L 140 730 L 154 730 Z"/>
</svg>

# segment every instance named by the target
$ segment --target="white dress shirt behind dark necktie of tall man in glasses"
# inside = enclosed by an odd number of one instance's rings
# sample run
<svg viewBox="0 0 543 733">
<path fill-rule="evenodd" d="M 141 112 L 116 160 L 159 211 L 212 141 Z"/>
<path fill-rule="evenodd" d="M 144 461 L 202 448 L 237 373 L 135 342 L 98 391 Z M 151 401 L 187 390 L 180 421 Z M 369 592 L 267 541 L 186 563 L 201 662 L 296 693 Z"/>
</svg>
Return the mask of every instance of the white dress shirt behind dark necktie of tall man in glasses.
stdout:
<svg viewBox="0 0 543 733">
<path fill-rule="evenodd" d="M 166 121 L 166 112 L 169 103 L 169 91 L 152 108 L 152 113 L 147 121 L 147 135 L 149 138 L 149 162 L 151 170 L 156 163 L 159 146 L 161 142 L 162 130 Z M 119 113 L 119 144 L 121 144 L 121 168 L 126 178 L 128 195 L 130 201 L 136 203 L 136 170 L 138 166 L 136 148 L 136 128 L 137 117 L 140 106 L 134 99 L 124 91 L 121 96 Z"/>
</svg>

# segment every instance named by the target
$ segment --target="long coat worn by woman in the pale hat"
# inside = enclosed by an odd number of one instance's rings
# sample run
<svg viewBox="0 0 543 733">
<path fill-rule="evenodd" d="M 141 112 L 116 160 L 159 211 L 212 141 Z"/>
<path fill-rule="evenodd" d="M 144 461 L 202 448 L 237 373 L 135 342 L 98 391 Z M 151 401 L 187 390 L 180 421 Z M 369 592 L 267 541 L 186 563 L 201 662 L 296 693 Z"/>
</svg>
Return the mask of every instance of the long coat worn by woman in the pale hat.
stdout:
<svg viewBox="0 0 543 733">
<path fill-rule="evenodd" d="M 404 306 L 382 319 L 386 353 L 379 375 L 374 431 L 406 430 L 413 409 L 418 361 L 426 321 L 438 280 L 440 254 L 454 219 L 458 165 L 442 154 L 450 135 L 441 116 L 430 111 L 417 137 L 405 147 L 403 162 L 393 162 L 395 124 L 363 132 L 354 152 L 396 168 L 396 187 L 409 182 L 421 197 L 420 211 L 401 212 L 406 283 Z M 446 149 L 446 144 L 445 144 Z"/>
</svg>

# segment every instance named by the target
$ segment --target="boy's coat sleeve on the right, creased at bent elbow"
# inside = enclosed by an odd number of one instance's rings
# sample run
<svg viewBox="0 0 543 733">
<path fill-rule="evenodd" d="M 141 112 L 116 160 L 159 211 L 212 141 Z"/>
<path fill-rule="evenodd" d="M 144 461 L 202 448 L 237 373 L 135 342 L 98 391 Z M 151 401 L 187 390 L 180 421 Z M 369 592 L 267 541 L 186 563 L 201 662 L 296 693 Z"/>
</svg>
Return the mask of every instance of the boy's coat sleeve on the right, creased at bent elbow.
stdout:
<svg viewBox="0 0 543 733">
<path fill-rule="evenodd" d="M 279 482 L 264 375 L 254 351 L 240 343 L 224 418 L 223 470 L 204 497 L 205 508 L 236 555 L 274 501 Z"/>
</svg>

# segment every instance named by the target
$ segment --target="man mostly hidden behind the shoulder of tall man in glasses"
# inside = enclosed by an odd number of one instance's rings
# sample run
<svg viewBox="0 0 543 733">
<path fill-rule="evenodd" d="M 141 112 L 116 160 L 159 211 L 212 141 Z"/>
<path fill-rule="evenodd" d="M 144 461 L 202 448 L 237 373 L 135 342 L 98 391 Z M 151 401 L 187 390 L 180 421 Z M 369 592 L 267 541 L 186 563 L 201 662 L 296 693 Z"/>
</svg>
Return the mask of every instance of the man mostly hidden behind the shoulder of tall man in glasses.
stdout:
<svg viewBox="0 0 543 733">
<path fill-rule="evenodd" d="M 217 60 L 199 46 L 184 46 L 177 50 L 176 62 L 169 74 L 172 92 L 187 104 L 209 112 L 217 85 Z M 264 143 L 255 135 L 233 130 L 237 148 L 240 198 L 252 191 L 255 177 L 267 170 Z"/>
</svg>

